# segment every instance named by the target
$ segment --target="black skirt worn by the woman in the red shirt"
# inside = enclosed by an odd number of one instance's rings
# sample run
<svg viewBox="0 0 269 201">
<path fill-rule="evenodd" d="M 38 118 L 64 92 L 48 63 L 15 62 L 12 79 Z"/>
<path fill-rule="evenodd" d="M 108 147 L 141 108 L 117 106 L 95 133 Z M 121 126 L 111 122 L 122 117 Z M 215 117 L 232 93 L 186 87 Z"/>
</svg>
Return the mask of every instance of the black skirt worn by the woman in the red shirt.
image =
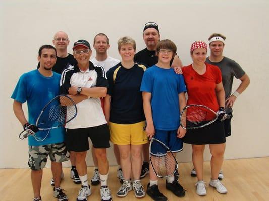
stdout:
<svg viewBox="0 0 269 201">
<path fill-rule="evenodd" d="M 189 129 L 183 137 L 183 142 L 195 145 L 225 143 L 224 123 L 217 120 L 203 128 Z"/>
</svg>

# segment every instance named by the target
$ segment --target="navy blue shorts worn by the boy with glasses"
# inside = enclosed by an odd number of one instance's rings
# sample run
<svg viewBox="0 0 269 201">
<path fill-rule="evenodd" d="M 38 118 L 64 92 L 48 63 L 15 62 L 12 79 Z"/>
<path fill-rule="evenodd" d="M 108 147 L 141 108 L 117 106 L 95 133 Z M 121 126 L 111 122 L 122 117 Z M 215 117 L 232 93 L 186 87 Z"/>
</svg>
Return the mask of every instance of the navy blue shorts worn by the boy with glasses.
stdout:
<svg viewBox="0 0 269 201">
<path fill-rule="evenodd" d="M 153 137 L 163 142 L 174 153 L 183 150 L 183 142 L 181 138 L 177 137 L 177 130 L 164 131 L 155 129 L 155 135 Z M 166 154 L 166 148 L 159 146 L 158 143 L 152 144 L 151 153 L 154 155 L 164 155 Z"/>
</svg>

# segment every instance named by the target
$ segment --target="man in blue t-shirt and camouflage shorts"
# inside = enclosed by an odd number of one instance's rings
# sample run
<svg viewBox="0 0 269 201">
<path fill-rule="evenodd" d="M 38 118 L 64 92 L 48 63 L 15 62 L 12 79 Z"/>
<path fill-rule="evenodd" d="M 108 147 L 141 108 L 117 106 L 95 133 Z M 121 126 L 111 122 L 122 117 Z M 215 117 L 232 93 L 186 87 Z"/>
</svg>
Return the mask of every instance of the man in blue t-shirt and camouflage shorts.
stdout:
<svg viewBox="0 0 269 201">
<path fill-rule="evenodd" d="M 67 149 L 64 143 L 64 128 L 38 131 L 36 120 L 42 108 L 52 98 L 59 95 L 61 75 L 52 72 L 56 63 L 56 49 L 51 45 L 43 45 L 38 51 L 40 68 L 23 74 L 11 96 L 14 99 L 13 110 L 23 125 L 23 128 L 34 135 L 28 137 L 29 161 L 31 180 L 34 191 L 34 201 L 40 201 L 42 169 L 45 167 L 48 155 L 51 160 L 51 171 L 55 178 L 53 196 L 57 200 L 68 200 L 60 187 L 62 162 L 68 160 Z M 28 120 L 24 115 L 22 104 L 27 101 Z"/>
</svg>

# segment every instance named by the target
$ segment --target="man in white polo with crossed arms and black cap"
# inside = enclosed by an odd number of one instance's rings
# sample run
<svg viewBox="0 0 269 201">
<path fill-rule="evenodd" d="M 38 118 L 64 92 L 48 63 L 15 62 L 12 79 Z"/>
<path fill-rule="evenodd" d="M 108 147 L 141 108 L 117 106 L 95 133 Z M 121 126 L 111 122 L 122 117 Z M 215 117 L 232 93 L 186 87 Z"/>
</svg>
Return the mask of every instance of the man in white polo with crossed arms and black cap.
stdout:
<svg viewBox="0 0 269 201">
<path fill-rule="evenodd" d="M 66 68 L 61 77 L 60 93 L 69 94 L 78 108 L 75 119 L 66 124 L 66 146 L 76 153 L 76 167 L 81 180 L 81 189 L 77 201 L 86 201 L 91 194 L 88 184 L 86 153 L 91 139 L 95 148 L 101 180 L 101 200 L 112 200 L 107 187 L 109 162 L 106 148 L 110 147 L 110 133 L 105 120 L 100 97 L 107 92 L 107 79 L 103 67 L 90 62 L 90 44 L 78 40 L 73 46 L 73 55 L 77 64 Z"/>
</svg>

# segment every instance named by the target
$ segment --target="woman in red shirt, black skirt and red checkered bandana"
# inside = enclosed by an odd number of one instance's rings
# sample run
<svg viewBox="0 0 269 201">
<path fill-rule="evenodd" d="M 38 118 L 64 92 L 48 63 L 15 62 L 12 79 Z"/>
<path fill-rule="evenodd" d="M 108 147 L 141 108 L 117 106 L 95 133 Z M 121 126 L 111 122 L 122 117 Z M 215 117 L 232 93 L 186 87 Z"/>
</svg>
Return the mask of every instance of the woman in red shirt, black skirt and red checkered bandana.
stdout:
<svg viewBox="0 0 269 201">
<path fill-rule="evenodd" d="M 219 114 L 214 123 L 199 129 L 188 130 L 183 142 L 192 145 L 192 161 L 197 173 L 196 193 L 206 195 L 203 181 L 203 152 L 209 144 L 211 157 L 211 180 L 209 185 L 215 187 L 219 193 L 227 193 L 227 189 L 219 181 L 218 175 L 223 163 L 225 151 L 225 133 L 223 120 L 225 92 L 222 85 L 221 71 L 217 66 L 205 63 L 207 45 L 202 41 L 195 41 L 191 45 L 193 64 L 183 67 L 182 72 L 187 87 L 189 104 L 205 105 Z M 222 120 L 222 121 L 220 121 Z"/>
</svg>

